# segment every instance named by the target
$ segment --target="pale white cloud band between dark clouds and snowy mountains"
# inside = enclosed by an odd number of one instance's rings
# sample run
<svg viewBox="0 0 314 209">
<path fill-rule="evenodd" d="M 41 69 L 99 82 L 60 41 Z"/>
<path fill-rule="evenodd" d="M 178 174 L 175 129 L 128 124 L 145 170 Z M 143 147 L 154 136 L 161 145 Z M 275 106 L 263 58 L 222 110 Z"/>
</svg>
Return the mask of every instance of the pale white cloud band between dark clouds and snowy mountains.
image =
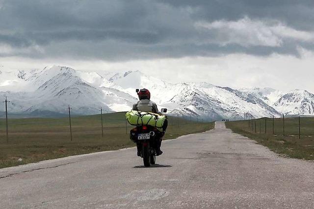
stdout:
<svg viewBox="0 0 314 209">
<path fill-rule="evenodd" d="M 0 58 L 0 70 L 43 69 L 46 66 L 68 66 L 83 71 L 140 70 L 170 82 L 209 82 L 232 88 L 271 87 L 289 91 L 306 89 L 314 93 L 314 53 L 302 47 L 301 56 L 272 54 L 268 57 L 230 54 L 220 57 L 184 57 L 172 59 L 133 60 L 128 62 L 33 60 Z M 131 81 L 130 81 L 131 82 Z"/>
</svg>

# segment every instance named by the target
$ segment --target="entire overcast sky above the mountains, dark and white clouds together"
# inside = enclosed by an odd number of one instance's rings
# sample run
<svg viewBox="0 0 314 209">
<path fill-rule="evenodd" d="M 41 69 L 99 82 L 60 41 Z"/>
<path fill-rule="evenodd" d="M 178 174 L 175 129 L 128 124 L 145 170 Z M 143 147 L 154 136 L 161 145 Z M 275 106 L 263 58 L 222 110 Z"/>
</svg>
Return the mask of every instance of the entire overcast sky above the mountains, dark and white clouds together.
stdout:
<svg viewBox="0 0 314 209">
<path fill-rule="evenodd" d="M 313 0 L 0 0 L 0 69 L 314 93 Z"/>
</svg>

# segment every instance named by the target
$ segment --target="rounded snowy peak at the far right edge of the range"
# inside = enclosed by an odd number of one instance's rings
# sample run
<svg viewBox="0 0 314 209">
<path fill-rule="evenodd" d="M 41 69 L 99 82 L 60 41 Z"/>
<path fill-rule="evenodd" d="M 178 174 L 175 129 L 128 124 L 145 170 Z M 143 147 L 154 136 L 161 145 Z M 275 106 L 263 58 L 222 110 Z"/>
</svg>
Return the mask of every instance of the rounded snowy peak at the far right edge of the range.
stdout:
<svg viewBox="0 0 314 209">
<path fill-rule="evenodd" d="M 314 115 L 314 94 L 305 90 L 294 90 L 282 95 L 274 104 L 285 115 Z"/>
</svg>

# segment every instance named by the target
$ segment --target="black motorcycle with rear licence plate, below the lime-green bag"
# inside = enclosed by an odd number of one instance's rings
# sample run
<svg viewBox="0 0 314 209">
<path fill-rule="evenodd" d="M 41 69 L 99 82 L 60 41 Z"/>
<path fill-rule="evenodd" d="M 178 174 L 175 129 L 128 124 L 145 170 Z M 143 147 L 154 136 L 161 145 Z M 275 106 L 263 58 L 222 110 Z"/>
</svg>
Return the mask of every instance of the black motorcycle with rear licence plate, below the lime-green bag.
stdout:
<svg viewBox="0 0 314 209">
<path fill-rule="evenodd" d="M 162 113 L 166 113 L 167 109 L 161 109 Z M 137 149 L 140 149 L 141 158 L 145 167 L 156 163 L 156 149 L 158 140 L 161 140 L 163 132 L 159 131 L 156 127 L 150 125 L 140 125 L 131 129 L 130 139 L 137 144 Z"/>
</svg>

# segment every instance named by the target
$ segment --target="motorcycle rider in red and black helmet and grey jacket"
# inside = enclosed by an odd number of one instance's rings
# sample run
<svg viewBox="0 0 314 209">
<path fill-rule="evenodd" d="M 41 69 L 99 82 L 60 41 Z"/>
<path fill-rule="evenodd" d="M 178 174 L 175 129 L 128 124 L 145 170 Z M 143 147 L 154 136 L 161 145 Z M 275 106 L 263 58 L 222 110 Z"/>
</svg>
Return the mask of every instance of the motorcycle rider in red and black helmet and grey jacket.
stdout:
<svg viewBox="0 0 314 209">
<path fill-rule="evenodd" d="M 147 89 L 141 89 L 137 93 L 137 95 L 138 95 L 139 101 L 133 105 L 132 110 L 157 113 L 157 114 L 161 115 L 161 113 L 158 111 L 156 103 L 150 100 L 151 99 L 151 93 Z M 165 124 L 165 127 L 163 129 L 165 131 L 166 124 Z M 160 136 L 160 139 L 157 141 L 157 147 L 156 147 L 156 155 L 157 156 L 162 154 L 162 151 L 160 150 L 160 146 L 161 146 L 161 140 L 162 140 L 162 136 L 164 134 L 164 131 L 163 131 L 162 135 Z M 141 156 L 141 146 L 139 143 L 137 143 L 136 146 L 137 146 L 137 156 Z"/>
</svg>

